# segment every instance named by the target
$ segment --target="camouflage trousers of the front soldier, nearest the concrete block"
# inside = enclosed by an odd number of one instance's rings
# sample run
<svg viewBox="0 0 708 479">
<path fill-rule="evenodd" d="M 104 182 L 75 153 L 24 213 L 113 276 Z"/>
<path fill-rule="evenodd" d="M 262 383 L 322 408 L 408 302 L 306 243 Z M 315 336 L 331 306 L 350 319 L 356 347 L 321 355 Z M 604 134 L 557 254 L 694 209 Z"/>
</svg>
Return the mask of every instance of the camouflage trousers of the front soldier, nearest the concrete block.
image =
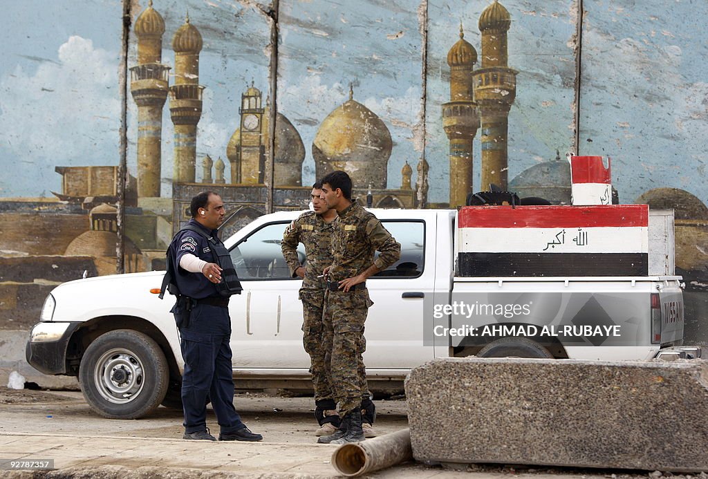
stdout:
<svg viewBox="0 0 708 479">
<path fill-rule="evenodd" d="M 366 289 L 347 293 L 327 291 L 324 297 L 325 371 L 337 412 L 344 417 L 360 408 L 362 397 L 369 396 L 363 357 L 366 351 L 364 323 L 373 303 Z"/>
</svg>

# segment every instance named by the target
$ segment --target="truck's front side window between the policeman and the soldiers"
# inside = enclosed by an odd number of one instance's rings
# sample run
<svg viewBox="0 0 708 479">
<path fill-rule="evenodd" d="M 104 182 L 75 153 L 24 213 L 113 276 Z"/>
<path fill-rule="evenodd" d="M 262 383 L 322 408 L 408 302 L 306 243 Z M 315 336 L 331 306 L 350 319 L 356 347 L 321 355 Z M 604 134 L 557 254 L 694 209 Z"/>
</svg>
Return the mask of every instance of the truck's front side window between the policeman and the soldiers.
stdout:
<svg viewBox="0 0 708 479">
<path fill-rule="evenodd" d="M 231 258 L 239 279 L 292 279 L 280 250 L 282 233 L 288 224 L 289 221 L 266 224 L 232 248 Z M 297 255 L 304 261 L 302 244 L 297 246 Z"/>
</svg>

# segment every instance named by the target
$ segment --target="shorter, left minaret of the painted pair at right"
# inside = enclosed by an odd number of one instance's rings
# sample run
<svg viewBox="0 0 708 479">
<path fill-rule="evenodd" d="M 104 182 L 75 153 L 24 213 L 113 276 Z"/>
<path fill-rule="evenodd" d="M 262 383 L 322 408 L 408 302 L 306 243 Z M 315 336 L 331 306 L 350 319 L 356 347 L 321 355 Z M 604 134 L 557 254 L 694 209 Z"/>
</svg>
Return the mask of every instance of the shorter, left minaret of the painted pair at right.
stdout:
<svg viewBox="0 0 708 479">
<path fill-rule="evenodd" d="M 472 140 L 479 128 L 479 110 L 472 93 L 476 61 L 477 52 L 464 40 L 460 23 L 459 40 L 447 52 L 450 101 L 442 104 L 442 128 L 450 139 L 450 208 L 464 206 L 472 192 Z"/>
</svg>

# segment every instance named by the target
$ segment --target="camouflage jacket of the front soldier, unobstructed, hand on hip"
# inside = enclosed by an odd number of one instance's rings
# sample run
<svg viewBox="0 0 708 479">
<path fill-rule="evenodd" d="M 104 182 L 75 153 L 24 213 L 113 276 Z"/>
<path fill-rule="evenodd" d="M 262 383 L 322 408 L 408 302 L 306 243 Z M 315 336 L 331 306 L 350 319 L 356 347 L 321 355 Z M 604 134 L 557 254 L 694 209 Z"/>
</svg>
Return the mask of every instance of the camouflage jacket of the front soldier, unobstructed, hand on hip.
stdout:
<svg viewBox="0 0 708 479">
<path fill-rule="evenodd" d="M 330 281 L 353 277 L 375 264 L 385 270 L 401 257 L 401 245 L 356 200 L 333 221 Z M 379 257 L 374 260 L 374 253 Z"/>
</svg>

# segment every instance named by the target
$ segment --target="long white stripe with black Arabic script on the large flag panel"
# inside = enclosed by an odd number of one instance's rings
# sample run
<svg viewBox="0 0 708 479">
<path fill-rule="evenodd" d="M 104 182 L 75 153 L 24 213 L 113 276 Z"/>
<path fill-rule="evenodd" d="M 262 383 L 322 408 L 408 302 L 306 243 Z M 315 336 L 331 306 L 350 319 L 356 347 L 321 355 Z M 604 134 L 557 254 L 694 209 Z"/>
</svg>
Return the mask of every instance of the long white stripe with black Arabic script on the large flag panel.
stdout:
<svg viewBox="0 0 708 479">
<path fill-rule="evenodd" d="M 646 226 L 459 228 L 460 253 L 649 253 Z"/>
</svg>

